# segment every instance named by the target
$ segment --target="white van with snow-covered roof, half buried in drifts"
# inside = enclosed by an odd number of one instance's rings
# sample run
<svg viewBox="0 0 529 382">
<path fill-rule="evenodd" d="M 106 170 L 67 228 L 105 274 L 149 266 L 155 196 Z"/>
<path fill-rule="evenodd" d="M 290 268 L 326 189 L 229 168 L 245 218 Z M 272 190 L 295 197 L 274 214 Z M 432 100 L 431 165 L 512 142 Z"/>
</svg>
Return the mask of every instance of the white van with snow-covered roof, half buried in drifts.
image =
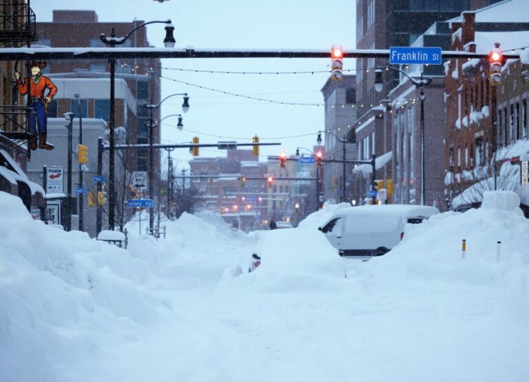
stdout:
<svg viewBox="0 0 529 382">
<path fill-rule="evenodd" d="M 439 213 L 432 206 L 382 204 L 354 206 L 334 213 L 318 229 L 344 256 L 380 256 L 404 237 L 404 224 Z"/>
</svg>

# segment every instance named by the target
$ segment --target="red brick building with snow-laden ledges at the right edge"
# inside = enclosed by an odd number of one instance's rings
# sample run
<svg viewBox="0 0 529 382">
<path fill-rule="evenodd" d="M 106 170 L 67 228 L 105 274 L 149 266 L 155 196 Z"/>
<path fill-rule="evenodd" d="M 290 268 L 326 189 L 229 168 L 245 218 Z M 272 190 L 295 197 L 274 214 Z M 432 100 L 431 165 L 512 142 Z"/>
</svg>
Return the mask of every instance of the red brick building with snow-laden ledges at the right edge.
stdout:
<svg viewBox="0 0 529 382">
<path fill-rule="evenodd" d="M 451 23 L 452 50 L 488 54 L 495 43 L 518 47 L 529 39 L 523 7 L 523 0 L 510 0 L 464 12 Z M 446 63 L 444 183 L 446 202 L 453 209 L 479 204 L 489 189 L 514 189 L 515 175 L 504 163 L 519 160 L 506 148 L 527 137 L 526 70 L 519 60 L 506 63 L 496 86 L 489 79 L 488 60 Z"/>
</svg>

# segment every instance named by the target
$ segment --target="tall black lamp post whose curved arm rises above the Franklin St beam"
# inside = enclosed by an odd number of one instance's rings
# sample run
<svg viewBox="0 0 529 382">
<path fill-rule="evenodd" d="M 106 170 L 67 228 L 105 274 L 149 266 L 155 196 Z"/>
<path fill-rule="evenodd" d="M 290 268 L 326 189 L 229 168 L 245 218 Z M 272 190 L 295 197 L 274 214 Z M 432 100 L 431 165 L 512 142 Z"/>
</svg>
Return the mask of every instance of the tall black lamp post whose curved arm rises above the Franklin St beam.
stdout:
<svg viewBox="0 0 529 382">
<path fill-rule="evenodd" d="M 171 23 L 171 20 L 167 21 L 149 21 L 148 23 L 143 23 L 141 25 L 138 25 L 136 28 L 131 30 L 126 36 L 124 37 L 116 37 L 116 32 L 114 31 L 114 28 L 112 28 L 112 33 L 110 34 L 110 37 L 107 37 L 104 33 L 101 33 L 101 36 L 99 36 L 99 39 L 103 41 L 106 45 L 110 45 L 111 47 L 114 47 L 116 45 L 121 45 L 127 41 L 129 36 L 136 32 L 139 28 L 144 27 L 145 25 L 153 24 L 153 23 L 164 23 L 165 25 L 165 39 L 163 40 L 163 43 L 165 47 L 174 47 L 174 43 L 176 41 L 174 40 L 173 31 L 174 26 Z M 108 202 L 108 226 L 109 229 L 114 230 L 114 209 L 116 206 L 116 195 L 114 191 L 114 146 L 116 145 L 114 141 L 114 109 L 115 109 L 115 93 L 114 93 L 114 85 L 116 80 L 116 59 L 110 59 L 110 121 L 109 121 L 109 167 L 108 167 L 108 193 L 109 193 L 109 202 Z"/>
</svg>

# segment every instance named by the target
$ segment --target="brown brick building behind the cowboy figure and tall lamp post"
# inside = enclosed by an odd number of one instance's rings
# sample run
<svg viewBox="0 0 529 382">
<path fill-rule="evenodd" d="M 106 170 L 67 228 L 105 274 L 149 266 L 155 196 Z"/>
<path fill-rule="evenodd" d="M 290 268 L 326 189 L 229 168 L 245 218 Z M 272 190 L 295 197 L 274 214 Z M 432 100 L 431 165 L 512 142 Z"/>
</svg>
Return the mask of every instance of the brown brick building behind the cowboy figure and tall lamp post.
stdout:
<svg viewBox="0 0 529 382">
<path fill-rule="evenodd" d="M 96 12 L 92 10 L 54 10 L 52 22 L 37 23 L 39 29 L 40 45 L 49 47 L 106 47 L 99 38 L 101 33 L 110 36 L 112 28 L 116 36 L 125 36 L 138 25 L 145 21 L 132 21 L 129 23 L 100 23 Z M 139 28 L 121 47 L 149 47 L 147 41 L 147 27 Z M 150 26 L 149 28 L 156 28 Z M 65 33 L 65 31 L 71 31 Z M 160 41 L 163 36 L 160 32 Z M 131 59 L 116 63 L 116 100 L 115 100 L 115 126 L 124 127 L 127 131 L 127 142 L 148 143 L 149 115 L 144 103 L 158 103 L 160 101 L 160 78 L 158 73 L 160 61 L 157 59 Z M 103 118 L 110 120 L 110 64 L 107 60 L 91 61 L 49 61 L 45 72 L 54 78 L 85 78 L 85 81 L 94 81 L 101 89 L 98 97 L 91 97 L 87 89 L 79 89 L 81 103 L 83 104 L 83 117 Z M 119 87 L 128 89 L 119 89 Z M 84 90 L 81 92 L 81 90 Z M 107 94 L 105 94 L 105 92 Z M 123 96 L 118 96 L 120 93 Z M 70 92 L 71 93 L 71 92 Z M 73 94 L 56 96 L 56 115 L 61 117 L 65 112 L 75 112 L 72 108 Z M 128 102 L 127 102 L 127 98 Z M 132 100 L 131 100 L 132 99 Z M 155 120 L 159 120 L 160 109 L 153 109 Z M 160 142 L 160 128 L 154 127 L 154 143 Z M 155 151 L 155 168 L 160 167 L 160 153 Z M 132 170 L 147 170 L 147 150 L 138 149 L 133 152 L 131 160 Z M 135 157 L 135 158 L 134 158 Z M 159 171 L 155 171 L 156 176 Z M 156 182 L 158 179 L 156 178 Z"/>
</svg>

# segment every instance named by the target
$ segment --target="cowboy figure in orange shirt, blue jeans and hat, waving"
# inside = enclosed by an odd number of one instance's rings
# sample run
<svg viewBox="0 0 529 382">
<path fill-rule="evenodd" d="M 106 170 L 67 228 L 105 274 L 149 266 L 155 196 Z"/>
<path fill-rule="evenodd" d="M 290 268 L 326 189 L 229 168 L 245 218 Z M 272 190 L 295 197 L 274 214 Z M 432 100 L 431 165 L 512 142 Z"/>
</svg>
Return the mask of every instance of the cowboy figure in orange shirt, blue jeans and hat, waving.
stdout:
<svg viewBox="0 0 529 382">
<path fill-rule="evenodd" d="M 52 102 L 52 98 L 57 92 L 57 87 L 52 83 L 50 78 L 43 76 L 41 70 L 44 69 L 46 63 L 44 61 L 31 62 L 31 86 L 30 86 L 30 107 L 34 112 L 30 118 L 30 134 L 29 147 L 32 150 L 37 150 L 37 129 L 35 125 L 39 126 L 39 149 L 52 150 L 54 145 L 49 143 L 46 138 L 48 134 L 48 108 Z M 17 78 L 17 87 L 20 94 L 23 96 L 28 94 L 28 77 L 24 78 L 24 82 L 20 79 L 20 73 L 14 72 L 14 78 Z M 45 90 L 48 89 L 48 94 L 44 95 Z"/>
</svg>

